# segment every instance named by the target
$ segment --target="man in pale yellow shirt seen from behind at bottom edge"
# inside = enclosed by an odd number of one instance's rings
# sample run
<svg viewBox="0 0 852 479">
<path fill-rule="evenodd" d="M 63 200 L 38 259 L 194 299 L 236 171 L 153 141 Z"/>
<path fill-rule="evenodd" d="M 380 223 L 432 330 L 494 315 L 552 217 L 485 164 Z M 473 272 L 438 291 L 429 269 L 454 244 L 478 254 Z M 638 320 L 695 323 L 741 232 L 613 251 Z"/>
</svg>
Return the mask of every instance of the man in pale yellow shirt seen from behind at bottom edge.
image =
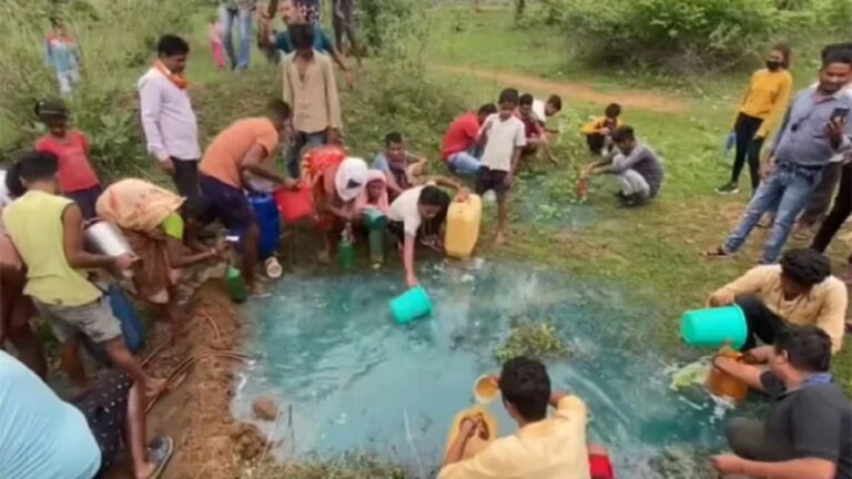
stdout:
<svg viewBox="0 0 852 479">
<path fill-rule="evenodd" d="M 551 395 L 545 365 L 525 357 L 510 359 L 503 366 L 499 379 L 494 380 L 518 431 L 463 459 L 468 442 L 480 430 L 478 419 L 465 419 L 458 438 L 447 450 L 438 479 L 615 477 L 606 451 L 586 445 L 586 405 L 566 393 Z M 548 404 L 556 408 L 550 418 Z"/>
</svg>

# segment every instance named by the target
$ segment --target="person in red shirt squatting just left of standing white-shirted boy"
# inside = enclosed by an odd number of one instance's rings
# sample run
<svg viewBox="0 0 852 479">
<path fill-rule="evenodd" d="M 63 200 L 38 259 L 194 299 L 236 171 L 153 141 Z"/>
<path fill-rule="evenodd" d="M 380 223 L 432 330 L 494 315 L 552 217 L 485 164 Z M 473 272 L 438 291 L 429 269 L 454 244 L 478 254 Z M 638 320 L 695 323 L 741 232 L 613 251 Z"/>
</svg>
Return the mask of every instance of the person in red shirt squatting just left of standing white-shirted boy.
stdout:
<svg viewBox="0 0 852 479">
<path fill-rule="evenodd" d="M 494 103 L 479 108 L 477 113 L 467 112 L 453 121 L 444 135 L 442 160 L 447 167 L 459 176 L 474 177 L 479 171 L 479 154 L 476 154 L 476 140 L 485 119 L 497 113 Z"/>
</svg>

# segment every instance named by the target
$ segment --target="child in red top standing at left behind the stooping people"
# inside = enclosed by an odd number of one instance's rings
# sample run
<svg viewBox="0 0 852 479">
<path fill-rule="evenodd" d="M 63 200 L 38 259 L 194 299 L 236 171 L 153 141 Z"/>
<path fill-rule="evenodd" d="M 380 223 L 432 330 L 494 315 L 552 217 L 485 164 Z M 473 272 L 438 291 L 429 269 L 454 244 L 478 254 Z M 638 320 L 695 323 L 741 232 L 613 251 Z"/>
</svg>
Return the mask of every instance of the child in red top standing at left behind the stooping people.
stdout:
<svg viewBox="0 0 852 479">
<path fill-rule="evenodd" d="M 36 150 L 59 159 L 59 188 L 74 201 L 83 220 L 97 216 L 94 204 L 103 193 L 101 182 L 89 163 L 89 139 L 68 128 L 68 109 L 60 100 L 44 100 L 36 105 L 36 114 L 48 128 L 48 134 L 36 143 Z"/>
</svg>

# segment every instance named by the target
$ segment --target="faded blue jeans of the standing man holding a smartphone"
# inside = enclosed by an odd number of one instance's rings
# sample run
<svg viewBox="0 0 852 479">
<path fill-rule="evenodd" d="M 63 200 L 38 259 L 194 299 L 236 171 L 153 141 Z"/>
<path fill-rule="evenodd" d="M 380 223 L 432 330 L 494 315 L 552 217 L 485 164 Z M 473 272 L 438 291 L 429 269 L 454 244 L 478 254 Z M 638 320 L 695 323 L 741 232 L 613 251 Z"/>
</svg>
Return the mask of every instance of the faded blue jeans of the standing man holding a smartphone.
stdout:
<svg viewBox="0 0 852 479">
<path fill-rule="evenodd" d="M 821 169 L 805 169 L 791 163 L 777 165 L 772 175 L 754 192 L 754 196 L 746 207 L 746 216 L 724 242 L 724 251 L 737 252 L 746 243 L 763 213 L 777 210 L 775 224 L 763 249 L 762 258 L 763 264 L 774 263 L 787 243 L 795 218 L 808 205 L 821 176 Z"/>
</svg>

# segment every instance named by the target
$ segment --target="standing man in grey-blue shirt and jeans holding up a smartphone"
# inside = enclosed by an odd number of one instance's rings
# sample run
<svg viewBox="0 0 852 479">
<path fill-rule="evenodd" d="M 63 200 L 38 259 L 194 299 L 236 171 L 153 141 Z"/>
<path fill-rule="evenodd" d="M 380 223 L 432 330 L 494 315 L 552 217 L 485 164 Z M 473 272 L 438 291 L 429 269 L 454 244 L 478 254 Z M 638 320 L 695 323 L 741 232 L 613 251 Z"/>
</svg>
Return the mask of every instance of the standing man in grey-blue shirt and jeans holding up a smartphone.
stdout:
<svg viewBox="0 0 852 479">
<path fill-rule="evenodd" d="M 723 258 L 737 253 L 768 211 L 778 210 L 763 251 L 762 264 L 775 263 L 799 214 L 808 204 L 831 159 L 850 150 L 852 128 L 846 116 L 852 96 L 843 88 L 852 79 L 852 52 L 825 55 L 815 89 L 800 92 L 784 116 L 769 155 L 764 181 L 746 208 L 746 215 L 722 246 L 707 256 Z"/>
</svg>

